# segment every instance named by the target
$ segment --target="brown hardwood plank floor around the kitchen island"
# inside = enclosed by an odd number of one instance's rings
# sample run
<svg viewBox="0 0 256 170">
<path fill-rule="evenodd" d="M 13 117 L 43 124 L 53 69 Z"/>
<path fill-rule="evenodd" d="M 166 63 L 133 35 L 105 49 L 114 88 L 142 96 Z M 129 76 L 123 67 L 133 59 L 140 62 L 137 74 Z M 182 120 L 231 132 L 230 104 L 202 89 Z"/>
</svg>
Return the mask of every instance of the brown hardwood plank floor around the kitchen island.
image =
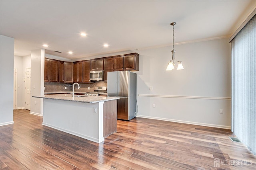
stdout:
<svg viewBox="0 0 256 170">
<path fill-rule="evenodd" d="M 256 169 L 256 156 L 226 129 L 137 117 L 118 120 L 117 132 L 98 144 L 42 119 L 17 109 L 14 124 L 0 127 L 1 170 Z"/>
</svg>

